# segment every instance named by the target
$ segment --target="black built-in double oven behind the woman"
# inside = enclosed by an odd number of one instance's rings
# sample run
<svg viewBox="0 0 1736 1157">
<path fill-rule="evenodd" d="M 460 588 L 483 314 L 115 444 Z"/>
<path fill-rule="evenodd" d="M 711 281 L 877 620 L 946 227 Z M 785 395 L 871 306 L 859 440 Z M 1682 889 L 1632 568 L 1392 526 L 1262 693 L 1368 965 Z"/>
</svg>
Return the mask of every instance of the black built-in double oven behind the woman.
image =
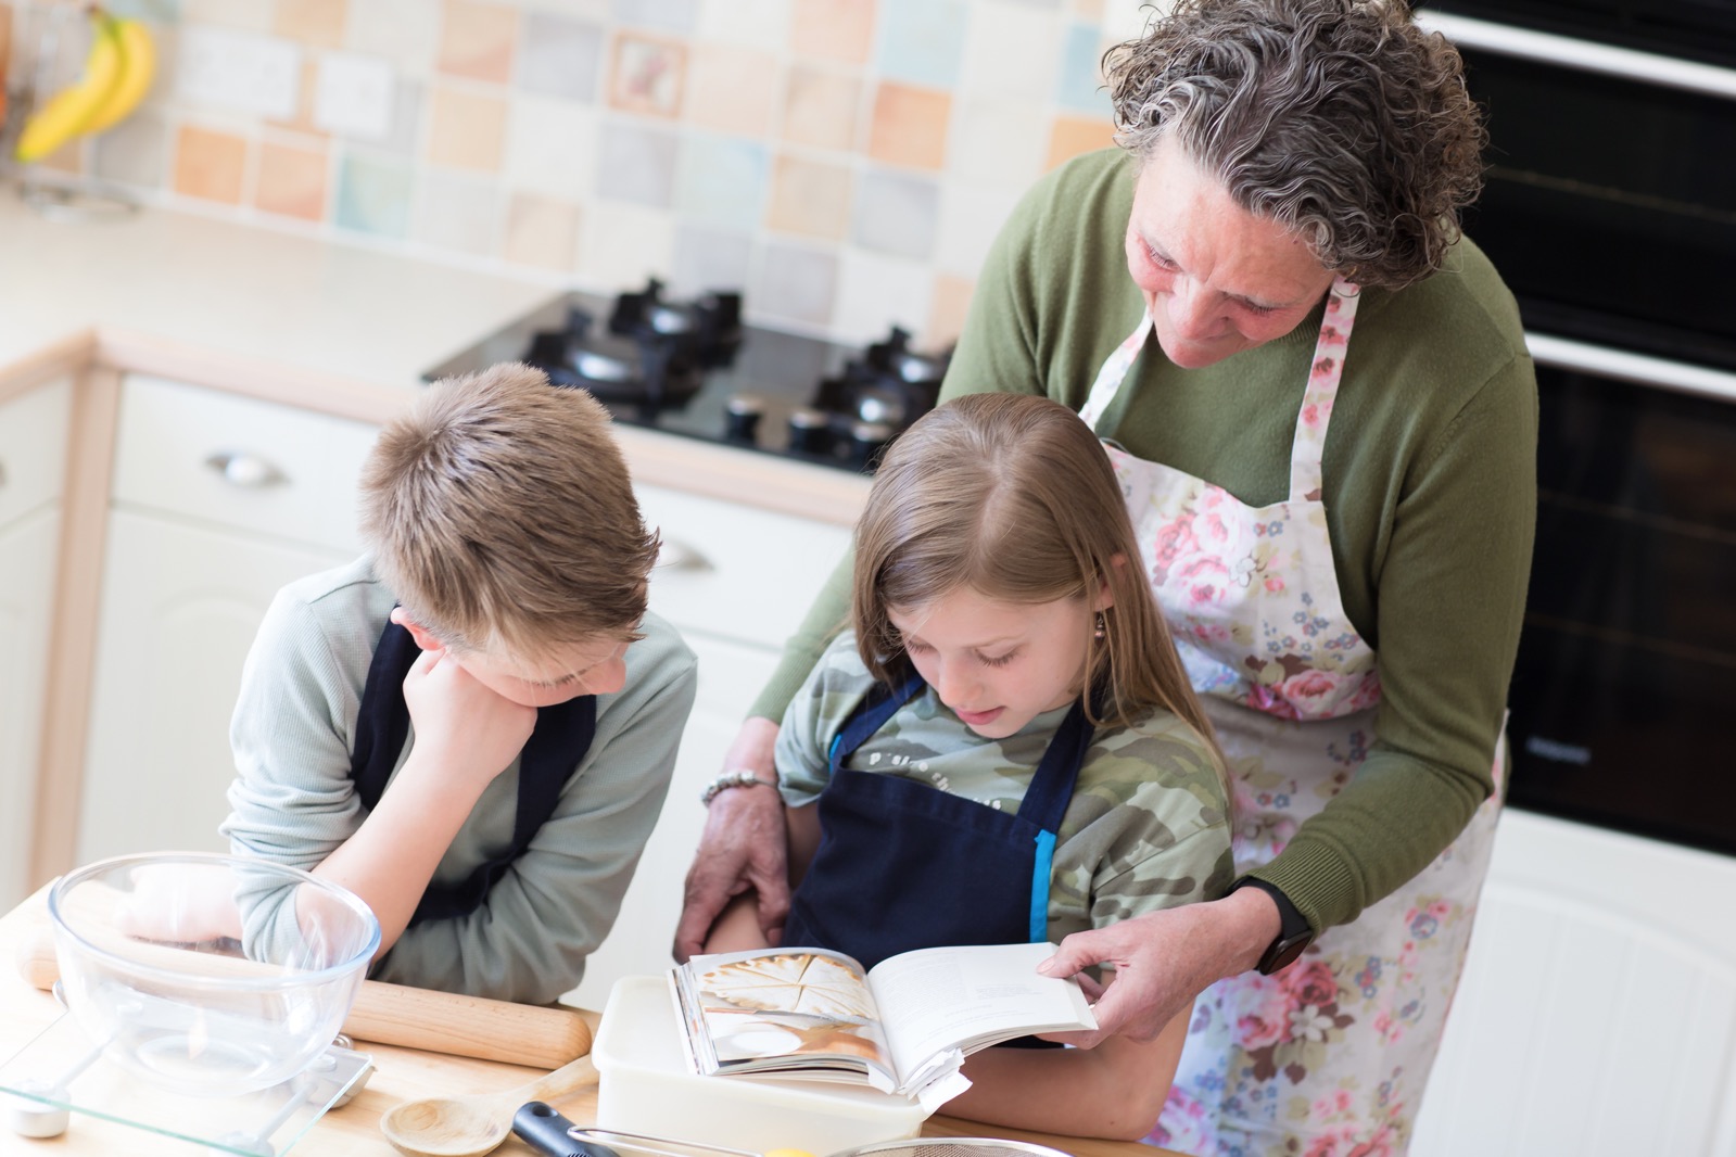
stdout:
<svg viewBox="0 0 1736 1157">
<path fill-rule="evenodd" d="M 1736 853 L 1736 7 L 1453 0 L 1542 404 L 1510 801 Z"/>
</svg>

